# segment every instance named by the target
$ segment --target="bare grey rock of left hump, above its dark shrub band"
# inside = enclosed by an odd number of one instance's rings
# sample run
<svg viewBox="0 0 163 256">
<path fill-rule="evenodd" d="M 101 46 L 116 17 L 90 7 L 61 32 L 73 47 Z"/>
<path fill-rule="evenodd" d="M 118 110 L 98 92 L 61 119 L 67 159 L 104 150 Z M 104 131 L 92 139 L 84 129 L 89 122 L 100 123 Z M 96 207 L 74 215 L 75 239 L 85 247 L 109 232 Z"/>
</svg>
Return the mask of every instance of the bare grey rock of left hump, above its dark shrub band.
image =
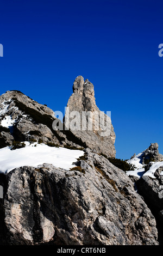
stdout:
<svg viewBox="0 0 163 256">
<path fill-rule="evenodd" d="M 6 135 L 3 131 L 1 132 L 1 137 L 8 137 L 8 144 L 11 144 L 14 139 L 29 141 L 32 138 L 41 138 L 45 143 L 50 139 L 52 142 L 58 142 L 45 121 L 45 119 L 49 121 L 54 119 L 54 112 L 50 108 L 15 91 L 8 91 L 1 95 L 0 103 L 1 124 L 7 119 L 10 119 L 11 123 Z"/>
</svg>

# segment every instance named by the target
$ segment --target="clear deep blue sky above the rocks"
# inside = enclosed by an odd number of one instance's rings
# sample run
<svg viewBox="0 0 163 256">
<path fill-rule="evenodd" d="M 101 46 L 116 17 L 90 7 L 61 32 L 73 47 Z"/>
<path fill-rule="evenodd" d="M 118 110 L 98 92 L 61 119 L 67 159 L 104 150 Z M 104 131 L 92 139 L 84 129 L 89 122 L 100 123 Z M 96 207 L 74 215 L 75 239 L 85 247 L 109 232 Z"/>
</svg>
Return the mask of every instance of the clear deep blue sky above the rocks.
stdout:
<svg viewBox="0 0 163 256">
<path fill-rule="evenodd" d="M 0 94 L 21 90 L 64 111 L 78 75 L 111 111 L 116 157 L 158 142 L 163 153 L 163 2 L 2 0 Z"/>
</svg>

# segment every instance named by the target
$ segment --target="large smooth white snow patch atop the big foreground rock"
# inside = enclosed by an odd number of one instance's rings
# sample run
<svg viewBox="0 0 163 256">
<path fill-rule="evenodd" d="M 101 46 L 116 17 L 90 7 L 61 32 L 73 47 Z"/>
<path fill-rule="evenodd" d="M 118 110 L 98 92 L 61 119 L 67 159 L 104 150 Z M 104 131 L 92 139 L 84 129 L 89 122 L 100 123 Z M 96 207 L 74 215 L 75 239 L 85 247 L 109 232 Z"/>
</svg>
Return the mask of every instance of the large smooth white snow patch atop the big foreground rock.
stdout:
<svg viewBox="0 0 163 256">
<path fill-rule="evenodd" d="M 0 149 L 0 173 L 8 173 L 16 167 L 37 167 L 43 163 L 51 163 L 54 167 L 69 170 L 73 162 L 84 155 L 82 150 L 48 147 L 45 144 L 25 142 L 26 147 L 10 150 L 10 147 Z M 36 144 L 36 147 L 34 145 Z"/>
</svg>

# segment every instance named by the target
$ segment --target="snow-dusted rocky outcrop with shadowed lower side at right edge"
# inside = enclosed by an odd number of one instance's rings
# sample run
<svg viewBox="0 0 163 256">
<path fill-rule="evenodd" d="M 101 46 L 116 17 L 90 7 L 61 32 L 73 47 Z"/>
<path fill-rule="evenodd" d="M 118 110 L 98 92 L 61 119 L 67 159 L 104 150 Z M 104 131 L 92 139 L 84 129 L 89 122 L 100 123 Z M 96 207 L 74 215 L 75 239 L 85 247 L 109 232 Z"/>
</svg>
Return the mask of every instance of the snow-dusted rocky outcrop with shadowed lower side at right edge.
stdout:
<svg viewBox="0 0 163 256">
<path fill-rule="evenodd" d="M 163 237 L 163 158 L 159 154 L 158 143 L 151 143 L 149 148 L 137 156 L 131 157 L 129 163 L 137 165 L 137 169 L 127 174 L 135 182 L 136 190 L 156 218 L 159 231 L 159 242 Z M 161 238 L 160 238 L 161 237 Z"/>
</svg>

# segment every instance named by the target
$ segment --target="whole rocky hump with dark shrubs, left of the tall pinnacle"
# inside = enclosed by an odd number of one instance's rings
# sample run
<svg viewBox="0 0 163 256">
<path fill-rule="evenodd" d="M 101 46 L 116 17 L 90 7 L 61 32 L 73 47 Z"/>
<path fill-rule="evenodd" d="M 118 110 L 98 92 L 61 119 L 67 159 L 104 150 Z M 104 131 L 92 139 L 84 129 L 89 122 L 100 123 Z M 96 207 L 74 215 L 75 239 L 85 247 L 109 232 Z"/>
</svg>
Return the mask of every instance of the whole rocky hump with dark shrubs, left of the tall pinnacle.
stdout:
<svg viewBox="0 0 163 256">
<path fill-rule="evenodd" d="M 9 121 L 9 129 L 3 127 Z M 15 141 L 36 139 L 43 143 L 58 144 L 61 147 L 81 147 L 70 131 L 54 131 L 53 121 L 56 120 L 52 109 L 30 99 L 21 92 L 8 91 L 0 96 L 0 148 Z"/>
</svg>

